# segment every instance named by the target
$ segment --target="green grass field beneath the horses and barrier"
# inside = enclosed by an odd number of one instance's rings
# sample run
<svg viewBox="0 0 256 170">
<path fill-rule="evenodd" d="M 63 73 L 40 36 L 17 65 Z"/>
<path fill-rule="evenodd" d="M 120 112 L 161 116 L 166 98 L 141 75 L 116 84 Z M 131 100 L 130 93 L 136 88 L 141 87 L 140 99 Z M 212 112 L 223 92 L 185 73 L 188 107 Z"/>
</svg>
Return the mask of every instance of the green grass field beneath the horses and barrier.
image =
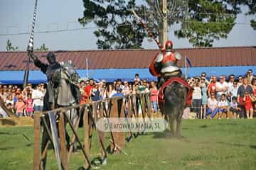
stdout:
<svg viewBox="0 0 256 170">
<path fill-rule="evenodd" d="M 147 133 L 124 150 L 127 155 L 109 154 L 99 169 L 256 169 L 256 120 L 183 120 L 183 139 Z M 47 169 L 57 169 L 53 152 L 48 153 Z M 91 159 L 97 153 L 94 136 Z M 82 153 L 75 153 L 69 169 L 83 162 Z M 0 128 L 0 169 L 33 169 L 33 127 Z"/>
</svg>

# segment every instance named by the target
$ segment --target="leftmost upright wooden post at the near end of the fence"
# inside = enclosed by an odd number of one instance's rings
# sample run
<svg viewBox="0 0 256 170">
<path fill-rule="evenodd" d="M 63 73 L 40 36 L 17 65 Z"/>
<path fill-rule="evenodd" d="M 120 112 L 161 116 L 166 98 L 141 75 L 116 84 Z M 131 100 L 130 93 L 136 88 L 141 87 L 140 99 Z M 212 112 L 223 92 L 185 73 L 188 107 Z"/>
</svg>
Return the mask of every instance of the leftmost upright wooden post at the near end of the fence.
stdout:
<svg viewBox="0 0 256 170">
<path fill-rule="evenodd" d="M 34 158 L 33 169 L 40 169 L 40 112 L 35 111 L 34 118 Z"/>
</svg>

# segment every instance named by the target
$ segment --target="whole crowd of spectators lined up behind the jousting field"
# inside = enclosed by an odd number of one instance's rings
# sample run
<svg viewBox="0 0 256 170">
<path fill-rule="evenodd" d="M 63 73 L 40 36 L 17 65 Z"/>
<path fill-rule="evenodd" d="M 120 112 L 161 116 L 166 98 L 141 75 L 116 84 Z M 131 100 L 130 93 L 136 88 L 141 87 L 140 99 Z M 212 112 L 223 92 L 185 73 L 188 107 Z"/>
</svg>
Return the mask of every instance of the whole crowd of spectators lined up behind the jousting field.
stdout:
<svg viewBox="0 0 256 170">
<path fill-rule="evenodd" d="M 218 78 L 218 79 L 217 79 Z M 256 101 L 256 77 L 252 70 L 248 70 L 245 77 L 231 74 L 220 77 L 210 76 L 207 79 L 205 72 L 200 77 L 187 79 L 188 84 L 193 86 L 193 102 L 191 108 L 197 113 L 197 118 L 213 118 L 215 115 L 230 112 L 233 118 L 253 118 Z M 151 93 L 151 112 L 159 112 L 157 96 L 159 88 L 156 81 L 140 79 L 139 74 L 134 75 L 131 82 L 117 79 L 111 83 L 104 79 L 96 82 L 94 79 L 80 81 L 78 84 L 82 98 L 80 103 L 98 101 L 113 96 L 125 96 L 127 94 Z M 4 100 L 7 108 L 18 116 L 29 116 L 33 118 L 34 111 L 42 111 L 43 96 L 46 93 L 45 84 L 37 84 L 32 87 L 28 84 L 21 89 L 18 86 L 1 85 L 0 97 Z M 0 108 L 1 109 L 1 108 Z M 0 116 L 6 117 L 1 109 Z"/>
</svg>

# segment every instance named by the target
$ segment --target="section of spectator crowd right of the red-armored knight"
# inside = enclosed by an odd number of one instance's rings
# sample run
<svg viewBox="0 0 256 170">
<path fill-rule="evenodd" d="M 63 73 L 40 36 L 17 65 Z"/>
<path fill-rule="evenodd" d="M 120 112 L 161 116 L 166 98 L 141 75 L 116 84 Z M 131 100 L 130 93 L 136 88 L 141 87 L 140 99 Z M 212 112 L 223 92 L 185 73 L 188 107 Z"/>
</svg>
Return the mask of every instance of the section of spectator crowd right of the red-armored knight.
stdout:
<svg viewBox="0 0 256 170">
<path fill-rule="evenodd" d="M 227 78 L 227 79 L 226 79 Z M 231 113 L 232 118 L 252 119 L 256 108 L 256 77 L 249 69 L 244 77 L 236 79 L 234 74 L 225 77 L 210 76 L 206 78 L 203 72 L 201 77 L 187 79 L 193 86 L 191 108 L 197 113 L 197 118 L 210 118 L 218 115 L 226 118 Z"/>
</svg>

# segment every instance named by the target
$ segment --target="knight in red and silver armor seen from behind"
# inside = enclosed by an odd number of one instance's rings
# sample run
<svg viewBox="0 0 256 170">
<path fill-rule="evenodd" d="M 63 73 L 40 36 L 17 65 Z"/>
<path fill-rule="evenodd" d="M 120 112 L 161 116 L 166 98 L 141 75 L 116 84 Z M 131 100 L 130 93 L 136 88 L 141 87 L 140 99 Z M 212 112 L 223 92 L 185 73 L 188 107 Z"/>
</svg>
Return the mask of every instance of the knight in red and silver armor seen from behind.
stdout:
<svg viewBox="0 0 256 170">
<path fill-rule="evenodd" d="M 171 77 L 183 77 L 181 69 L 177 67 L 178 60 L 181 60 L 181 54 L 174 52 L 171 40 L 166 41 L 165 48 L 161 47 L 149 67 L 151 74 L 157 77 L 159 86 Z"/>
</svg>

